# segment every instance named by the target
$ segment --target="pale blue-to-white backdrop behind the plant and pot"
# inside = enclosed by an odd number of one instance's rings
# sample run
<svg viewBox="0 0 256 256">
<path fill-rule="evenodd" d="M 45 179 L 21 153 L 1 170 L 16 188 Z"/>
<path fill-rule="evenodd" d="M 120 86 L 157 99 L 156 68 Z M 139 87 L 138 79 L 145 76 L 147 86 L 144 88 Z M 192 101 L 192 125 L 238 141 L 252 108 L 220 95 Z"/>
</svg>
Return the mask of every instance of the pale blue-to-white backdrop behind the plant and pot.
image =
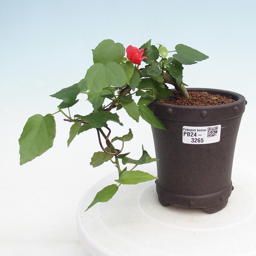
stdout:
<svg viewBox="0 0 256 256">
<path fill-rule="evenodd" d="M 91 49 L 103 39 L 113 39 L 125 47 L 140 47 L 152 39 L 168 50 L 181 43 L 207 54 L 209 59 L 184 68 L 183 81 L 190 87 L 219 88 L 245 96 L 248 104 L 237 139 L 237 147 L 242 149 L 236 148 L 235 157 L 255 161 L 255 149 L 249 147 L 255 145 L 255 3 L 1 1 L 0 202 L 5 210 L 0 212 L 0 252 L 7 253 L 12 246 L 6 244 L 13 241 L 19 241 L 17 248 L 31 253 L 33 247 L 28 241 L 78 244 L 76 206 L 94 182 L 114 171 L 108 164 L 97 170 L 90 166 L 92 152 L 100 150 L 94 132 L 79 135 L 67 149 L 69 125 L 62 122 L 62 116 L 56 116 L 54 147 L 19 166 L 18 139 L 28 117 L 56 111 L 60 101 L 49 95 L 84 78 L 92 65 Z M 82 108 L 87 114 L 88 102 L 82 102 Z M 130 124 L 134 127 L 135 140 L 128 149 L 140 153 L 143 143 L 154 155 L 149 125 L 126 118 L 121 121 L 128 122 L 122 134 Z M 114 130 L 118 132 L 119 127 L 114 126 Z M 37 255 L 46 255 L 43 248 Z M 15 249 L 8 252 L 14 255 Z M 47 255 L 56 254 L 50 250 Z M 76 254 L 66 249 L 60 255 Z"/>
</svg>

